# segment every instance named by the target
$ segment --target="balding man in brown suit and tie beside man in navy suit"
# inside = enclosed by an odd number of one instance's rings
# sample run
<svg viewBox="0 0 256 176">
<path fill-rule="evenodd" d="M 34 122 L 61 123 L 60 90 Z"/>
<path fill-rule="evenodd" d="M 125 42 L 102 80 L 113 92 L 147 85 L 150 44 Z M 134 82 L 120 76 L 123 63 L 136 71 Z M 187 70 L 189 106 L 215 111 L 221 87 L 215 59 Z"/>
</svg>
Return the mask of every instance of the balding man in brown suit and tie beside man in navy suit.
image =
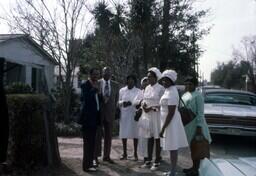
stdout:
<svg viewBox="0 0 256 176">
<path fill-rule="evenodd" d="M 110 158 L 110 152 L 111 152 L 113 122 L 115 120 L 116 106 L 118 102 L 119 86 L 117 82 L 111 80 L 111 70 L 109 67 L 103 68 L 102 76 L 103 78 L 100 79 L 99 82 L 100 82 L 101 94 L 103 96 L 103 102 L 101 106 L 101 120 L 102 120 L 103 137 L 104 137 L 103 161 L 107 161 L 113 164 L 114 162 Z M 101 130 L 98 130 L 98 131 L 101 131 Z M 100 147 L 101 137 L 97 137 L 96 146 L 99 147 L 98 149 L 96 149 L 97 151 L 99 151 L 99 149 L 101 149 Z M 98 152 L 98 156 L 100 156 L 100 153 Z M 96 156 L 96 159 L 97 159 L 97 156 Z"/>
</svg>

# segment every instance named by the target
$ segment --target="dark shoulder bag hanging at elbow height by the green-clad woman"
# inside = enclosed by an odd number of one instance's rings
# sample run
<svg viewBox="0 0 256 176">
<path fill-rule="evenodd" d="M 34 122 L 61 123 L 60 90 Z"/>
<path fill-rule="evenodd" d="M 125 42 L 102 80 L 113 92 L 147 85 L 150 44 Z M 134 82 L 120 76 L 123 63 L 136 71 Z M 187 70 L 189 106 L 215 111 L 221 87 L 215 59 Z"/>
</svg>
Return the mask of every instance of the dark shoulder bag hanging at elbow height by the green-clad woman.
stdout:
<svg viewBox="0 0 256 176">
<path fill-rule="evenodd" d="M 181 116 L 181 120 L 184 126 L 186 126 L 188 123 L 190 123 L 195 117 L 195 113 L 187 108 L 184 101 L 180 98 L 180 102 L 183 104 L 183 106 L 179 106 L 179 112 Z"/>
</svg>

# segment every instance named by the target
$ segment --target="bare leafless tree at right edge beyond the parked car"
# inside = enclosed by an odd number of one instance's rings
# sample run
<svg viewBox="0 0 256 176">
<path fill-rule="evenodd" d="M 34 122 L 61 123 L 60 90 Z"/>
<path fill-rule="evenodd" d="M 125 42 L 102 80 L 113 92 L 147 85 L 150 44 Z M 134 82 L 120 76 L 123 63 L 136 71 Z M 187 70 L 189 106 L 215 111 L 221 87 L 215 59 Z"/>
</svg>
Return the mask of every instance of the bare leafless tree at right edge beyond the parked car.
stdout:
<svg viewBox="0 0 256 176">
<path fill-rule="evenodd" d="M 233 49 L 235 60 L 244 60 L 249 63 L 247 76 L 252 85 L 252 90 L 256 92 L 256 36 L 244 37 L 239 49 Z"/>
</svg>

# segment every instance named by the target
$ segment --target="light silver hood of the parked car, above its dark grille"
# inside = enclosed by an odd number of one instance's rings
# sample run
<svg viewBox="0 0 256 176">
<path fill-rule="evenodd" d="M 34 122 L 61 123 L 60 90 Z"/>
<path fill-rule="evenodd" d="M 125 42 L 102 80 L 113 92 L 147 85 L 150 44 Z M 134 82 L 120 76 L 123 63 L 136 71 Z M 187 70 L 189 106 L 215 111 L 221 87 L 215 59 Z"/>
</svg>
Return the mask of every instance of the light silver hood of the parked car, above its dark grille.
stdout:
<svg viewBox="0 0 256 176">
<path fill-rule="evenodd" d="M 205 104 L 204 114 L 256 117 L 256 106 L 229 105 L 229 104 Z"/>
</svg>

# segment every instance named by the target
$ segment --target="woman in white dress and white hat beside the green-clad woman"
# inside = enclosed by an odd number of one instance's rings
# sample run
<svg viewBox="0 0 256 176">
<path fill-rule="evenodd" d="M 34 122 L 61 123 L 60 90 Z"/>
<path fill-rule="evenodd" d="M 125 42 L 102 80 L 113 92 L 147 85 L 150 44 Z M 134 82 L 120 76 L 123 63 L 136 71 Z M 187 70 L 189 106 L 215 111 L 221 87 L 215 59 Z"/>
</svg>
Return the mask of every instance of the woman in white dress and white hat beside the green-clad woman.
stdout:
<svg viewBox="0 0 256 176">
<path fill-rule="evenodd" d="M 170 151 L 171 171 L 168 176 L 175 176 L 178 160 L 178 149 L 187 147 L 188 141 L 181 116 L 178 111 L 179 93 L 175 87 L 177 73 L 174 70 L 166 70 L 162 74 L 162 84 L 165 92 L 160 99 L 161 105 L 161 132 L 163 150 Z"/>
</svg>

